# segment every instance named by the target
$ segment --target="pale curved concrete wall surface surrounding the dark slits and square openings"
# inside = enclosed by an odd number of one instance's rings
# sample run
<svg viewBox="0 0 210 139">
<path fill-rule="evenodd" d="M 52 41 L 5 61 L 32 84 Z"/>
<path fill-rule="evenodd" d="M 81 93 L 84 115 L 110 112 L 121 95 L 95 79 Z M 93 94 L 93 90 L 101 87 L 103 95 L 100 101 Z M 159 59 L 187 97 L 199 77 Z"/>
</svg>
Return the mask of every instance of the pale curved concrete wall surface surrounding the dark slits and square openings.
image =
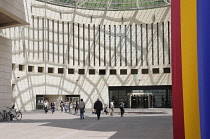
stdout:
<svg viewBox="0 0 210 139">
<path fill-rule="evenodd" d="M 55 5 L 48 5 L 37 1 L 32 1 L 32 15 L 31 25 L 25 27 L 16 27 L 9 30 L 5 30 L 4 34 L 8 38 L 13 40 L 13 63 L 15 68 L 13 70 L 13 84 L 15 88 L 13 90 L 14 102 L 17 108 L 23 110 L 33 110 L 36 108 L 36 95 L 80 95 L 86 102 L 87 108 L 91 108 L 94 101 L 99 97 L 103 103 L 108 104 L 108 87 L 109 86 L 148 86 L 148 85 L 171 85 L 171 74 L 163 73 L 163 68 L 170 67 L 170 59 L 168 53 L 170 53 L 170 38 L 168 40 L 168 23 L 170 26 L 170 7 L 136 10 L 136 11 L 93 11 L 93 10 L 81 10 L 64 8 Z M 92 16 L 92 20 L 91 20 Z M 123 17 L 123 19 L 122 19 Z M 39 18 L 39 21 L 37 20 Z M 48 26 L 48 19 L 50 20 Z M 44 27 L 43 21 L 44 20 Z M 54 20 L 54 41 L 53 41 L 53 27 L 52 20 Z M 169 22 L 168 22 L 169 21 Z M 59 25 L 57 24 L 59 22 Z M 62 29 L 62 23 L 65 23 L 64 30 Z M 67 24 L 70 24 L 69 37 Z M 75 44 L 73 45 L 73 23 L 75 23 Z M 80 24 L 80 31 L 78 31 L 78 23 Z M 152 41 L 151 41 L 151 23 L 154 24 L 154 32 L 157 33 L 157 23 L 159 26 L 159 36 L 154 35 L 154 59 L 152 64 Z M 85 37 L 82 36 L 83 29 L 82 24 L 85 24 Z M 88 24 L 90 24 L 90 52 L 88 50 Z M 133 53 L 132 66 L 130 65 L 130 29 L 127 28 L 127 58 L 128 65 L 125 65 L 124 56 L 122 58 L 122 65 L 120 66 L 120 40 L 119 40 L 119 25 L 129 27 L 132 25 L 132 50 L 135 50 L 135 25 L 138 25 L 138 59 L 139 62 L 135 65 L 135 52 Z M 143 64 L 141 64 L 141 37 L 140 37 L 140 25 L 143 24 Z M 146 24 L 148 24 L 148 42 L 146 42 Z M 164 27 L 162 26 L 164 24 Z M 59 26 L 59 29 L 57 28 Z M 95 65 L 94 61 L 94 38 L 93 38 L 93 25 L 102 27 L 106 25 L 105 35 L 106 44 L 104 44 L 103 38 L 98 41 L 98 35 L 96 35 L 96 49 L 95 49 Z M 111 62 L 109 65 L 109 28 L 111 26 Z M 117 26 L 118 38 L 117 38 L 117 58 L 114 65 L 114 25 Z M 164 28 L 164 29 L 163 29 Z M 43 35 L 43 29 L 44 35 Z M 103 30 L 103 29 L 101 29 Z M 48 32 L 49 36 L 48 37 Z M 163 36 L 163 32 L 165 36 Z M 96 33 L 98 33 L 96 29 Z M 170 33 L 170 28 L 169 28 Z M 59 34 L 59 40 L 58 40 Z M 63 42 L 64 34 L 64 42 Z M 78 45 L 78 35 L 79 45 Z M 102 33 L 101 36 L 104 34 Z M 170 34 L 169 34 L 170 36 Z M 157 39 L 159 39 L 159 48 L 157 46 Z M 70 40 L 70 51 L 68 63 L 68 40 Z M 85 50 L 83 50 L 83 40 L 85 40 Z M 125 39 L 123 38 L 123 41 Z M 101 65 L 99 65 L 99 43 L 101 46 L 105 45 L 107 51 L 105 55 L 106 64 L 104 65 L 104 49 L 101 48 Z M 148 45 L 147 45 L 148 43 Z M 163 49 L 163 43 L 166 46 Z M 54 54 L 53 54 L 54 45 Z M 59 45 L 59 47 L 58 47 Z M 146 55 L 146 45 L 148 46 L 148 55 Z M 48 48 L 49 47 L 49 48 Z M 123 42 L 123 49 L 125 43 Z M 58 51 L 59 49 L 59 51 Z M 74 49 L 74 50 L 73 50 Z M 63 51 L 64 50 L 64 51 Z M 73 58 L 73 51 L 75 57 Z M 159 51 L 159 64 L 157 63 L 157 51 Z M 85 52 L 85 57 L 83 57 Z M 123 50 L 124 54 L 125 51 Z M 49 55 L 49 57 L 48 57 Z M 78 59 L 80 55 L 80 60 Z M 90 66 L 88 65 L 88 57 L 90 55 Z M 53 60 L 54 57 L 54 60 Z M 146 63 L 146 57 L 148 57 L 149 63 Z M 165 62 L 163 62 L 165 57 Z M 83 59 L 85 58 L 85 65 Z M 59 60 L 58 60 L 59 59 Z M 73 64 L 73 59 L 75 63 Z M 24 65 L 24 70 L 19 70 L 19 65 Z M 34 66 L 33 72 L 28 72 L 28 66 Z M 43 67 L 44 72 L 39 73 L 38 67 Z M 48 73 L 48 67 L 54 68 L 54 73 Z M 64 68 L 64 74 L 58 74 L 58 68 Z M 74 74 L 68 74 L 68 68 L 75 70 Z M 153 74 L 152 69 L 159 68 L 159 74 Z M 78 74 L 78 69 L 85 69 L 85 74 Z M 95 69 L 96 74 L 90 75 L 88 70 Z M 99 75 L 99 69 L 106 69 L 106 75 Z M 116 75 L 110 75 L 109 70 L 116 69 Z M 120 69 L 127 69 L 126 75 L 120 75 Z M 130 73 L 131 69 L 138 69 L 137 75 Z M 142 69 L 149 69 L 149 74 L 142 74 Z M 58 102 L 57 102 L 58 103 Z"/>
</svg>

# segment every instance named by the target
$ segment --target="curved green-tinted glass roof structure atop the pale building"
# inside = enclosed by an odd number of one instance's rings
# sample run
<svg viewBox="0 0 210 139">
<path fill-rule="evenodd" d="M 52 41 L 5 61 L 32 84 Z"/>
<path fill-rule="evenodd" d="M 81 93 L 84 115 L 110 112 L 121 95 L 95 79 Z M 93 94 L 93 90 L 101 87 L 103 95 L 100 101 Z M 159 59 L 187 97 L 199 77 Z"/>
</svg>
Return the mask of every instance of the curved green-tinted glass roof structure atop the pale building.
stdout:
<svg viewBox="0 0 210 139">
<path fill-rule="evenodd" d="M 91 10 L 140 10 L 166 7 L 171 0 L 37 0 L 64 7 Z"/>
</svg>

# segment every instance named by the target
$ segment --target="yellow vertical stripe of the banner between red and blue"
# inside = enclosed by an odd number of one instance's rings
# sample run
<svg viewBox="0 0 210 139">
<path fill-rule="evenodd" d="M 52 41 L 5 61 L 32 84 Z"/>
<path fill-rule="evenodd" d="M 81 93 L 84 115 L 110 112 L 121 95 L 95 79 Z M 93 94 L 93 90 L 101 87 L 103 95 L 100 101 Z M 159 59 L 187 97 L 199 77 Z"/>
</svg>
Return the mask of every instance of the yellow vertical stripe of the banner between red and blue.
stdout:
<svg viewBox="0 0 210 139">
<path fill-rule="evenodd" d="M 180 0 L 182 78 L 186 139 L 200 139 L 196 0 Z"/>
</svg>

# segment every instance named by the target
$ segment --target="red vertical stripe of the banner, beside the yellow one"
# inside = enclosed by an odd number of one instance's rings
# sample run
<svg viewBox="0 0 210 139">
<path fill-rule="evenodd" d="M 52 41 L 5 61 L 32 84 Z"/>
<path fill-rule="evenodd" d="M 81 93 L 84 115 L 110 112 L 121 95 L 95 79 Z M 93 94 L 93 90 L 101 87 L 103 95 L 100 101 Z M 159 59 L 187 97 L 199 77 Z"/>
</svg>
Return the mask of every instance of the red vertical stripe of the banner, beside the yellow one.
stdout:
<svg viewBox="0 0 210 139">
<path fill-rule="evenodd" d="M 184 139 L 180 0 L 171 1 L 172 98 L 174 139 Z"/>
</svg>

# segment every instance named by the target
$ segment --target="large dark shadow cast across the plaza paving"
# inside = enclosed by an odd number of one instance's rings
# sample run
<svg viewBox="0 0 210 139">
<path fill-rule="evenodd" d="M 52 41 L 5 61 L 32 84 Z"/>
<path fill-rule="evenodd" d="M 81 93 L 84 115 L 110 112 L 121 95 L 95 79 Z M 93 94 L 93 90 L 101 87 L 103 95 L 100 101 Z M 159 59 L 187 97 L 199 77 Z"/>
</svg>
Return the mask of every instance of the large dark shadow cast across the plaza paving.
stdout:
<svg viewBox="0 0 210 139">
<path fill-rule="evenodd" d="M 172 139 L 171 116 L 85 117 L 75 119 L 23 119 L 12 123 L 44 123 L 40 126 L 116 132 L 112 138 Z"/>
</svg>

